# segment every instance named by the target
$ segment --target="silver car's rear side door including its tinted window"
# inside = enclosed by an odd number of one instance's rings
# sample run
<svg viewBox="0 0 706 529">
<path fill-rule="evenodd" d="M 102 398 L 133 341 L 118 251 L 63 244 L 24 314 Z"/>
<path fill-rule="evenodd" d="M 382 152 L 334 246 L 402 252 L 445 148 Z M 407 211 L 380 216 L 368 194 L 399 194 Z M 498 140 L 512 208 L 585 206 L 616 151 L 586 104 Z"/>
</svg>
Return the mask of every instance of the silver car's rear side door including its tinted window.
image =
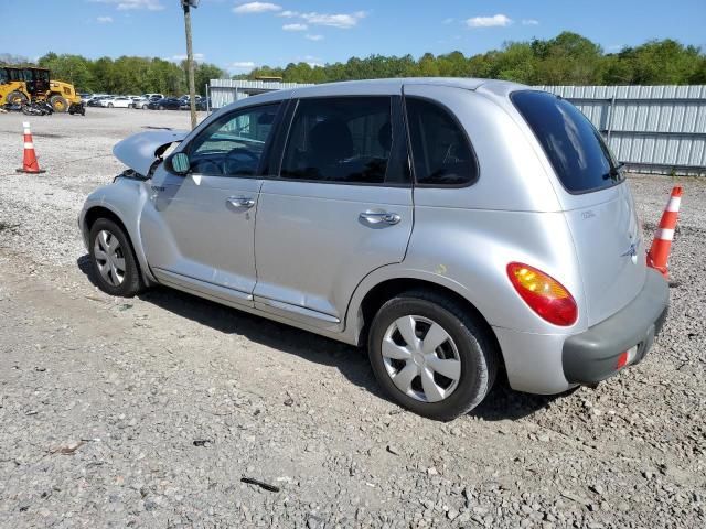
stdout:
<svg viewBox="0 0 706 529">
<path fill-rule="evenodd" d="M 411 234 L 400 98 L 306 98 L 291 108 L 279 177 L 260 190 L 255 306 L 340 330 L 356 285 L 400 262 Z"/>
</svg>

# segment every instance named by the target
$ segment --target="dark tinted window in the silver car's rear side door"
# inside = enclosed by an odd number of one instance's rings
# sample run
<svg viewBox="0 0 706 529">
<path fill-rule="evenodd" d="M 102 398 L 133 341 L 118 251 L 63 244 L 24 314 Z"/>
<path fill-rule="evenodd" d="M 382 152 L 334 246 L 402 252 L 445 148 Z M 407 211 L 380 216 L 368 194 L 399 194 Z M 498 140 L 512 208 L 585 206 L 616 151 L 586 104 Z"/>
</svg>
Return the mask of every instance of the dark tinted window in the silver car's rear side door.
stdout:
<svg viewBox="0 0 706 529">
<path fill-rule="evenodd" d="M 391 109 L 389 97 L 300 100 L 285 149 L 281 177 L 385 183 L 393 145 Z"/>
</svg>

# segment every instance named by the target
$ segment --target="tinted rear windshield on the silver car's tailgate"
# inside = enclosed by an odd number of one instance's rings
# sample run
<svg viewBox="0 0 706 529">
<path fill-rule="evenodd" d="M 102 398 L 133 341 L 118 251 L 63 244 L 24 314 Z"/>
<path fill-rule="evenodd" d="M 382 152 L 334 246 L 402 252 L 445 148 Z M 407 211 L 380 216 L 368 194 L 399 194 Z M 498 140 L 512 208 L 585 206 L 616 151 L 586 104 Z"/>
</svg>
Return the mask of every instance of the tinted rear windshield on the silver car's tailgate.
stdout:
<svg viewBox="0 0 706 529">
<path fill-rule="evenodd" d="M 511 99 L 568 192 L 598 191 L 622 181 L 600 133 L 574 105 L 546 91 L 515 91 Z"/>
</svg>

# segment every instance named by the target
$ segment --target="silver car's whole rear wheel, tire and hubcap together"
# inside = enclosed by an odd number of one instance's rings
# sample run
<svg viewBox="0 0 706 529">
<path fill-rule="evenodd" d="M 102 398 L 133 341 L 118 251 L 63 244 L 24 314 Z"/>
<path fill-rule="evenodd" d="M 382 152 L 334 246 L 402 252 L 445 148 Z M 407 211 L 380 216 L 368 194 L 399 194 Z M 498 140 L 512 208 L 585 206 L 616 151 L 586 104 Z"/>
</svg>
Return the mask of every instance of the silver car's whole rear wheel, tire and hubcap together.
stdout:
<svg viewBox="0 0 706 529">
<path fill-rule="evenodd" d="M 377 381 L 395 402 L 449 421 L 475 408 L 493 385 L 498 350 L 489 333 L 456 301 L 410 291 L 375 315 L 368 356 Z"/>
</svg>

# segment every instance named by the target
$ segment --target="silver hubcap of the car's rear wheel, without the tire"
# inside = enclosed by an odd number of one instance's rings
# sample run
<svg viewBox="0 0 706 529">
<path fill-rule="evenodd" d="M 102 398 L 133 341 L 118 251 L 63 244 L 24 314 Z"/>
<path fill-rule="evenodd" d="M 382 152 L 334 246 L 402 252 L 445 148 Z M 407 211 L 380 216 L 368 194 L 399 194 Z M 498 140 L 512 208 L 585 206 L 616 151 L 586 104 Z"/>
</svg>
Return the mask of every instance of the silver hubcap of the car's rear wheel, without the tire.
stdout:
<svg viewBox="0 0 706 529">
<path fill-rule="evenodd" d="M 461 378 L 461 359 L 441 325 L 422 316 L 395 320 L 383 337 L 383 361 L 397 388 L 413 399 L 438 402 Z"/>
</svg>

